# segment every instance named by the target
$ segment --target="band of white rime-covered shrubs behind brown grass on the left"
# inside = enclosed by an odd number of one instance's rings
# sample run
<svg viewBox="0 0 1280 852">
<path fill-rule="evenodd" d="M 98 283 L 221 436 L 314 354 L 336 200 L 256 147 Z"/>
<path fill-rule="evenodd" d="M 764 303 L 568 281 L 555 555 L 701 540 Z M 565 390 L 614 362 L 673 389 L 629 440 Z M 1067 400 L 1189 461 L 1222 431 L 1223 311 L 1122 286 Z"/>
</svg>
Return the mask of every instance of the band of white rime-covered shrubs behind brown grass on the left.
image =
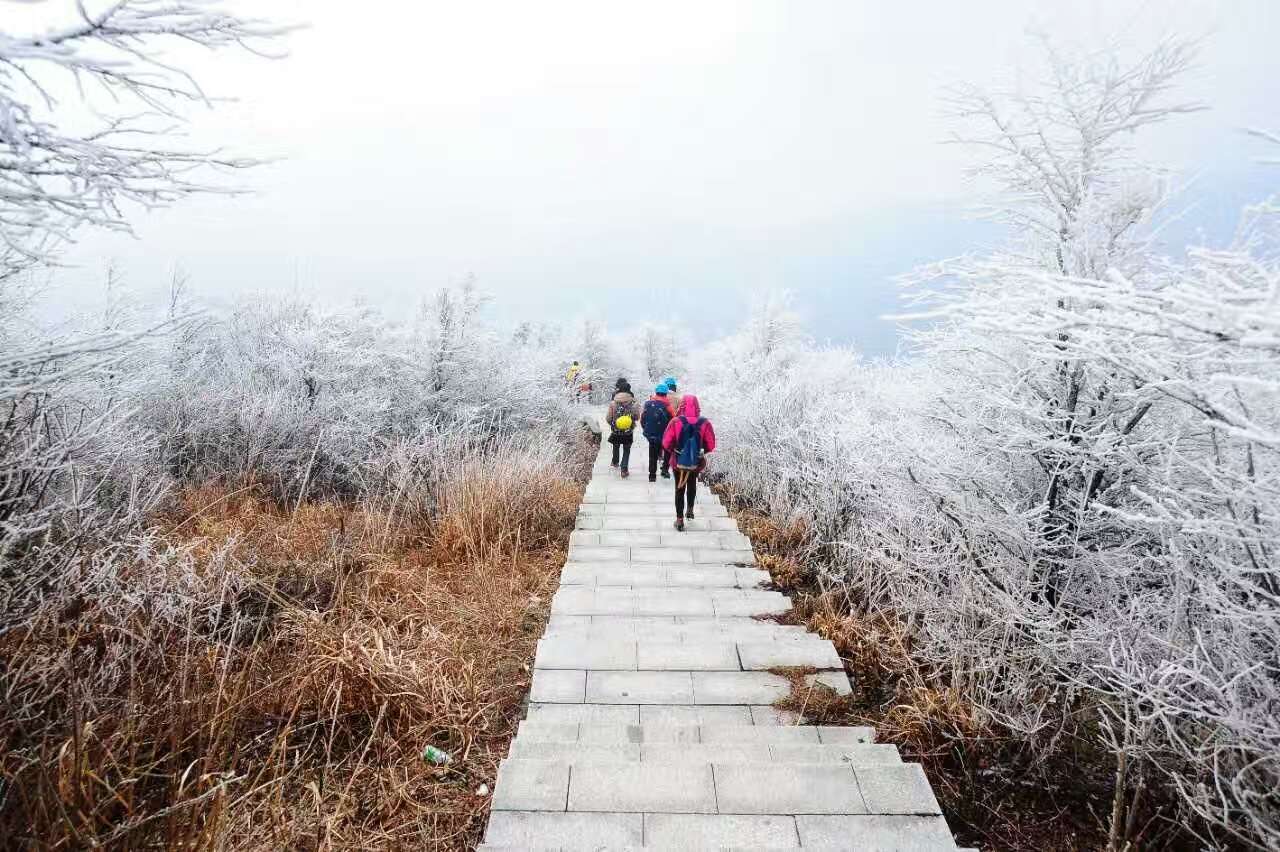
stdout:
<svg viewBox="0 0 1280 852">
<path fill-rule="evenodd" d="M 113 310 L 95 319 L 105 330 L 44 340 L 29 299 L 5 288 L 0 603 L 12 624 L 151 559 L 137 535 L 174 485 L 429 517 L 452 468 L 499 463 L 516 435 L 554 453 L 576 427 L 559 335 L 512 347 L 472 287 L 440 290 L 407 322 L 297 298 L 224 315 L 175 303 L 168 320 Z"/>
</svg>

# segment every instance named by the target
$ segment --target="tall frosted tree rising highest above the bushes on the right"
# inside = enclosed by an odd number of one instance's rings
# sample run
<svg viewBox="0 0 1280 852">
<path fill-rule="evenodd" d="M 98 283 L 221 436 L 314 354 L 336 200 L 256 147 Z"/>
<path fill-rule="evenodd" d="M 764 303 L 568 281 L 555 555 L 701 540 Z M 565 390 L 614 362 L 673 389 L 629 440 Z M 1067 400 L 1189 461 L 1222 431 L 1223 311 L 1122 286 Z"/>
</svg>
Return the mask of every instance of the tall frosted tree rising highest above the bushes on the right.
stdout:
<svg viewBox="0 0 1280 852">
<path fill-rule="evenodd" d="M 1010 225 L 1015 242 L 993 257 L 950 261 L 922 278 L 957 284 L 954 294 L 927 298 L 982 335 L 991 363 L 1018 362 L 1001 325 L 1038 325 L 1039 362 L 1027 365 L 1020 398 L 1010 402 L 1025 430 L 1021 440 L 1044 472 L 1037 562 L 1050 601 L 1079 540 L 1080 509 L 1105 477 L 1089 467 L 1088 448 L 1137 429 L 1149 407 L 1126 404 L 1128 380 L 1105 365 L 1070 357 L 1073 324 L 1041 321 L 1056 312 L 1088 324 L 1106 284 L 1075 294 L 1044 292 L 1034 279 L 1107 281 L 1119 274 L 1140 285 L 1157 271 L 1144 226 L 1164 203 L 1166 182 L 1135 159 L 1133 141 L 1137 132 L 1197 109 L 1171 96 L 1192 56 L 1184 42 L 1161 43 L 1130 63 L 1114 51 L 1068 58 L 1046 45 L 1038 88 L 963 90 L 952 101 L 957 120 L 972 128 L 956 138 L 979 152 L 974 171 L 996 185 L 992 215 Z M 955 345 L 950 330 L 943 334 L 940 345 Z M 988 362 L 974 363 L 980 370 Z"/>
</svg>

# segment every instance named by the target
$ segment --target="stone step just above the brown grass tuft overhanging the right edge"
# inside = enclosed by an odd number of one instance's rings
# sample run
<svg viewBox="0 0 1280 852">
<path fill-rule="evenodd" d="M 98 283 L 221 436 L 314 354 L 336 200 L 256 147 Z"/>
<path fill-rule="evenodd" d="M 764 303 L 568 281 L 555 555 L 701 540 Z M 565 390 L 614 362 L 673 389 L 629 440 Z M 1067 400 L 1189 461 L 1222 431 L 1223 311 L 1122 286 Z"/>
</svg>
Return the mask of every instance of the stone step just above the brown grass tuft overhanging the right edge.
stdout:
<svg viewBox="0 0 1280 852">
<path fill-rule="evenodd" d="M 535 669 L 591 672 L 765 672 L 780 667 L 841 670 L 827 640 L 796 642 L 707 641 L 658 642 L 556 637 L 538 641 Z"/>
</svg>

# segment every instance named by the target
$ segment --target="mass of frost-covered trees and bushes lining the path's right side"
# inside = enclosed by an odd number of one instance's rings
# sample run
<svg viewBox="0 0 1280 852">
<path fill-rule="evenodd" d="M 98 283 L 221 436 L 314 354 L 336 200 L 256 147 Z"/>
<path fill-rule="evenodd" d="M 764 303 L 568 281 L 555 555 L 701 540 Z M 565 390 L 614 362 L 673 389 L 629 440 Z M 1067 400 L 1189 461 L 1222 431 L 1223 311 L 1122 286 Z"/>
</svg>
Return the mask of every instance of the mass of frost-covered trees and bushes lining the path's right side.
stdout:
<svg viewBox="0 0 1280 852">
<path fill-rule="evenodd" d="M 1030 93 L 961 96 L 1012 239 L 913 276 L 908 362 L 759 310 L 700 358 L 714 475 L 906 626 L 915 686 L 1110 753 L 1115 849 L 1170 793 L 1208 844 L 1280 842 L 1280 230 L 1267 202 L 1225 249 L 1153 244 L 1134 132 L 1193 109 L 1189 56 L 1051 52 Z"/>
</svg>

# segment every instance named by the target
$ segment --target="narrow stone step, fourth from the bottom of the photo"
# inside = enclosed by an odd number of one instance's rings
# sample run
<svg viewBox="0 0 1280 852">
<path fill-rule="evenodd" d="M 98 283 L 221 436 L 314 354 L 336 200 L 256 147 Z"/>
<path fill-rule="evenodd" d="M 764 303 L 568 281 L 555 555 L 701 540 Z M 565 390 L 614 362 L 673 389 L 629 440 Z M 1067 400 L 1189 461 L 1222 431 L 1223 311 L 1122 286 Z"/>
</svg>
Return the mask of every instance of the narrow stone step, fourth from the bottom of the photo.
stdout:
<svg viewBox="0 0 1280 852">
<path fill-rule="evenodd" d="M 568 742 L 582 745 L 676 745 L 717 743 L 754 746 L 868 746 L 876 745 L 876 730 L 837 725 L 751 725 L 751 724 L 557 724 L 526 719 L 517 738 L 529 742 Z"/>
</svg>

